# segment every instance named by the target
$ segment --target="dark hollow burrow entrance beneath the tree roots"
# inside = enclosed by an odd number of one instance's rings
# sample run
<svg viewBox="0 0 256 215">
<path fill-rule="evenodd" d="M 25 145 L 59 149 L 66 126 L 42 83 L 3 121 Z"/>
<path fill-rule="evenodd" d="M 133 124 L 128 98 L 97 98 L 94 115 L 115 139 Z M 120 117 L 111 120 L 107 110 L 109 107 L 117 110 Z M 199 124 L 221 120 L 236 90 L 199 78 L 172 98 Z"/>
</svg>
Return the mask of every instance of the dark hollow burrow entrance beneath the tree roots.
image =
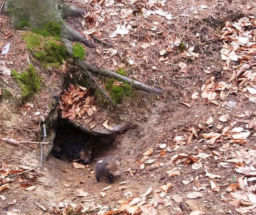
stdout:
<svg viewBox="0 0 256 215">
<path fill-rule="evenodd" d="M 74 148 L 84 146 L 84 149 L 91 150 L 91 160 L 93 160 L 103 155 L 104 151 L 111 149 L 115 140 L 115 134 L 84 131 L 83 126 L 75 126 L 61 117 L 55 122 L 51 131 L 55 133 L 51 150 L 52 156 L 67 162 L 71 162 L 73 159 L 70 159 L 70 153 L 79 153 L 82 150 Z M 79 155 L 76 156 L 79 157 Z M 74 159 L 76 160 L 76 158 Z M 84 164 L 83 160 L 77 162 Z"/>
</svg>

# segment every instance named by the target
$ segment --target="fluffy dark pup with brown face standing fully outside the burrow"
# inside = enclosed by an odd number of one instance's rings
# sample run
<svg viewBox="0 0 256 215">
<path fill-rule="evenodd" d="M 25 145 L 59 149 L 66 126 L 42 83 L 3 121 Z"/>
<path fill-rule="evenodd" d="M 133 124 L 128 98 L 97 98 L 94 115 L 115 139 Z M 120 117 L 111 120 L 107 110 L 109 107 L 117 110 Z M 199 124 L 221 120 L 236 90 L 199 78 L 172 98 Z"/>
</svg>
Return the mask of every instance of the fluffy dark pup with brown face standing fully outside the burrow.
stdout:
<svg viewBox="0 0 256 215">
<path fill-rule="evenodd" d="M 119 177 L 121 172 L 121 158 L 103 157 L 97 160 L 95 164 L 95 176 L 98 182 L 100 177 L 104 176 L 110 183 L 113 183 L 113 178 Z"/>
</svg>

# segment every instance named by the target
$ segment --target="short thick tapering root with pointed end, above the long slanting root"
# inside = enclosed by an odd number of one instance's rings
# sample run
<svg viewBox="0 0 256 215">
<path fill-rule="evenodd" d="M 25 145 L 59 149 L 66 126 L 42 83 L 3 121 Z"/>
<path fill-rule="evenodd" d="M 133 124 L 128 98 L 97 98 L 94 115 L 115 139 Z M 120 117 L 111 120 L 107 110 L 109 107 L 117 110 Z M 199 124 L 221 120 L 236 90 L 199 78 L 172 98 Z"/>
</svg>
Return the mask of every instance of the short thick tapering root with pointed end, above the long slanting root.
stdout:
<svg viewBox="0 0 256 215">
<path fill-rule="evenodd" d="M 71 27 L 69 27 L 66 24 L 62 24 L 61 37 L 66 38 L 67 40 L 70 40 L 73 42 L 79 41 L 81 43 L 84 43 L 84 45 L 88 46 L 89 48 L 95 48 L 95 45 L 91 41 L 86 40 L 86 38 L 84 38 L 83 35 L 81 35 L 77 31 L 73 30 Z M 72 48 L 71 48 L 71 50 L 72 50 Z"/>
</svg>

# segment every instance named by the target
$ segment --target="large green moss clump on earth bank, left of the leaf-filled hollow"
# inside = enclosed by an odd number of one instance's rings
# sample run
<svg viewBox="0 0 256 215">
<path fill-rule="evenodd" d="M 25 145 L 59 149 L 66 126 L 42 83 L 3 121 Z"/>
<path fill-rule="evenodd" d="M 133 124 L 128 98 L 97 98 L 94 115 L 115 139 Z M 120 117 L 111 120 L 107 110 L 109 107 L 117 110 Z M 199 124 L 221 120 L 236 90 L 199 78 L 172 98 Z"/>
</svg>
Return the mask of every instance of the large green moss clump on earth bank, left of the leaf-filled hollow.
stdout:
<svg viewBox="0 0 256 215">
<path fill-rule="evenodd" d="M 29 71 L 24 71 L 22 74 L 12 69 L 12 75 L 22 89 L 21 96 L 23 98 L 34 95 L 41 88 L 42 80 L 37 75 L 37 71 L 32 64 L 29 64 Z"/>
</svg>

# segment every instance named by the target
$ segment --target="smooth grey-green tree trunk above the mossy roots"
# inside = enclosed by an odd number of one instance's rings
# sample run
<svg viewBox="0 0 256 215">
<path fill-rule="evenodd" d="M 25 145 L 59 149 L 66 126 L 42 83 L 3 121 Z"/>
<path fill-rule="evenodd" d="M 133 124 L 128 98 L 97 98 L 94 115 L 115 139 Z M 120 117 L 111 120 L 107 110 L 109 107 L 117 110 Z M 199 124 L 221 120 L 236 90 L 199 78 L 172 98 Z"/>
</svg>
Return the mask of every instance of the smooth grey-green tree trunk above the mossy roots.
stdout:
<svg viewBox="0 0 256 215">
<path fill-rule="evenodd" d="M 32 28 L 42 28 L 49 22 L 61 22 L 58 0 L 7 0 L 5 10 L 12 15 L 12 27 L 28 21 Z"/>
</svg>

